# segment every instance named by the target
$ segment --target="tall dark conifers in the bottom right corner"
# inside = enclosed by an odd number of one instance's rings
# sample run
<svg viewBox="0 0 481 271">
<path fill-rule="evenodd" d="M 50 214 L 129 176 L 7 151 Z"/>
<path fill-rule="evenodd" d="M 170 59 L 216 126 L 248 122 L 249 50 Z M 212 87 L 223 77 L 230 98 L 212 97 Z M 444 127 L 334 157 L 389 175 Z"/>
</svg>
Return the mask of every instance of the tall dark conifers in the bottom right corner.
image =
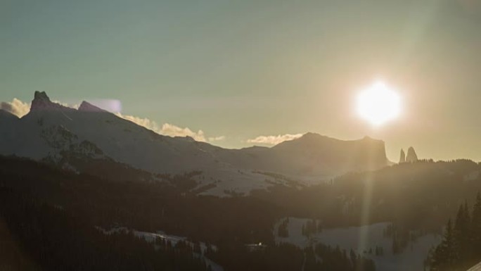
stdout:
<svg viewBox="0 0 481 271">
<path fill-rule="evenodd" d="M 454 221 L 449 219 L 441 244 L 432 249 L 430 270 L 467 270 L 481 261 L 481 195 L 478 192 L 473 208 L 468 203 L 458 208 Z"/>
</svg>

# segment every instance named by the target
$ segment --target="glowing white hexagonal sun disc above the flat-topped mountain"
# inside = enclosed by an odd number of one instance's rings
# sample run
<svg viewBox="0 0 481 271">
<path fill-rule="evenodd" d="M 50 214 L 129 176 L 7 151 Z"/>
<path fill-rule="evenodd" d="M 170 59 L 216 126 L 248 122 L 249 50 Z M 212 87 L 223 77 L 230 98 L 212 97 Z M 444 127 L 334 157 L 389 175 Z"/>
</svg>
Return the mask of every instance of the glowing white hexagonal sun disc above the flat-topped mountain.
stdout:
<svg viewBox="0 0 481 271">
<path fill-rule="evenodd" d="M 383 125 L 399 116 L 401 98 L 383 82 L 376 82 L 357 97 L 357 113 L 372 125 Z"/>
</svg>

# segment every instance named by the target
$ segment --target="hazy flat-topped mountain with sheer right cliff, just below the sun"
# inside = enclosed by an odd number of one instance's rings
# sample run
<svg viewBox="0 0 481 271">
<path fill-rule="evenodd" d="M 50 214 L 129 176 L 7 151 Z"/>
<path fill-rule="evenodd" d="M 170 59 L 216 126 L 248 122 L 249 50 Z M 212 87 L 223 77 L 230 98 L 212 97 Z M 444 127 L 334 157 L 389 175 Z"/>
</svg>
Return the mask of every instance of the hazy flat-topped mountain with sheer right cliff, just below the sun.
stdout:
<svg viewBox="0 0 481 271">
<path fill-rule="evenodd" d="M 224 160 L 242 168 L 295 176 L 329 176 L 352 170 L 373 170 L 389 163 L 383 141 L 368 137 L 342 141 L 313 133 L 272 148 L 252 147 L 233 153 L 233 156 L 224 156 Z"/>
</svg>

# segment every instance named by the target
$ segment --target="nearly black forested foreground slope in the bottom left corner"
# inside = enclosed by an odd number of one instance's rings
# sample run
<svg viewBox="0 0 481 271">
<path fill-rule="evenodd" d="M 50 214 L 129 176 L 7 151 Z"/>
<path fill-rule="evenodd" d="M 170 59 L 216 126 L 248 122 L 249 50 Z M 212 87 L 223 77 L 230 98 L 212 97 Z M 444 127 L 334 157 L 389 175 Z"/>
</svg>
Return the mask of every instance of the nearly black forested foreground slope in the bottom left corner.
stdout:
<svg viewBox="0 0 481 271">
<path fill-rule="evenodd" d="M 155 247 L 132 232 L 104 234 L 8 187 L 0 187 L 0 224 L 0 270 L 207 270 L 190 246 Z"/>
</svg>

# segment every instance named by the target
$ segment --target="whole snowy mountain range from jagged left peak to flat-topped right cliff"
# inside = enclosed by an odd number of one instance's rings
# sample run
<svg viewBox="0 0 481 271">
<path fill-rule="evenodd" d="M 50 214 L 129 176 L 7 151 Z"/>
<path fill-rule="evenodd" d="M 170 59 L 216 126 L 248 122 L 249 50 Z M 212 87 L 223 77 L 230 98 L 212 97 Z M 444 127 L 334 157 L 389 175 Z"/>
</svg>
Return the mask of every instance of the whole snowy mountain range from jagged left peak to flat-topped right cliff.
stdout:
<svg viewBox="0 0 481 271">
<path fill-rule="evenodd" d="M 352 170 L 381 168 L 389 163 L 383 141 L 368 137 L 342 141 L 307 133 L 272 148 L 222 149 L 190 137 L 167 137 L 117 117 L 86 101 L 79 109 L 50 101 L 35 92 L 30 113 L 17 118 L 0 112 L 0 154 L 47 160 L 79 170 L 73 159 L 109 160 L 155 173 L 181 174 L 200 170 L 205 177 L 230 187 L 265 187 L 265 175 L 318 177 Z M 70 158 L 70 159 L 68 159 Z M 241 172 L 245 170 L 245 172 Z"/>
</svg>

